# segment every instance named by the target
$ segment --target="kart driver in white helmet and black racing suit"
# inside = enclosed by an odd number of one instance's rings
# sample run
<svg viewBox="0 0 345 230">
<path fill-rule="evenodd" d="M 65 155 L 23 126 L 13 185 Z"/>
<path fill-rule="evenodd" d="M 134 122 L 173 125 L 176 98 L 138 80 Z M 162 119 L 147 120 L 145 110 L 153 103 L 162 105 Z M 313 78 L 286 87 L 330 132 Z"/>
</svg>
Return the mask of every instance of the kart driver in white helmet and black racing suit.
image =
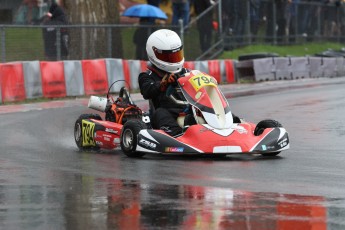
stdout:
<svg viewBox="0 0 345 230">
<path fill-rule="evenodd" d="M 183 45 L 176 32 L 160 29 L 152 33 L 146 42 L 146 52 L 150 64 L 139 74 L 139 88 L 144 99 L 150 100 L 152 126 L 164 130 L 171 136 L 182 132 L 177 117 L 185 105 L 176 105 L 167 96 L 169 85 L 177 84 L 176 78 L 189 72 L 183 68 Z M 182 99 L 182 98 L 180 98 Z"/>
</svg>

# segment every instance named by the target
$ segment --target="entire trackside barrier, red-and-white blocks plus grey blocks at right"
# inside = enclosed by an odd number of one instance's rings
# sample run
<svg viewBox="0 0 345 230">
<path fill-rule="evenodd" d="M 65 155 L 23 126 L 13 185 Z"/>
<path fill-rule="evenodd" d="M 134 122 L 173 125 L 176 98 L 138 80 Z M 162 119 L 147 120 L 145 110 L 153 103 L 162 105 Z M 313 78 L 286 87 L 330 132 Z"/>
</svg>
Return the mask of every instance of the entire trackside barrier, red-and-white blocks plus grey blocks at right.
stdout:
<svg viewBox="0 0 345 230">
<path fill-rule="evenodd" d="M 138 75 L 146 61 L 123 59 L 25 61 L 0 64 L 0 104 L 35 98 L 62 98 L 139 88 Z M 267 57 L 253 60 L 186 61 L 188 69 L 214 76 L 219 83 L 235 83 L 245 74 L 255 81 L 345 76 L 343 57 Z M 250 71 L 239 71 L 246 68 Z M 240 74 L 239 74 L 240 73 Z"/>
</svg>

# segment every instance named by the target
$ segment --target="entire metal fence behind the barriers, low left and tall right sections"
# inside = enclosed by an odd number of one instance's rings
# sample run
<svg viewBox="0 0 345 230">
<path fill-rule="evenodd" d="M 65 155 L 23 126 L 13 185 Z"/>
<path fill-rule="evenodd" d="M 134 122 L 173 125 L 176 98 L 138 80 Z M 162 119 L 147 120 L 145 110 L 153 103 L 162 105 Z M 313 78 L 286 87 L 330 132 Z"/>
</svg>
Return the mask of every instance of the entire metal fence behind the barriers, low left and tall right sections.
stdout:
<svg viewBox="0 0 345 230">
<path fill-rule="evenodd" d="M 286 45 L 345 41 L 345 3 L 340 0 L 219 0 L 189 25 L 0 25 L 1 62 L 30 60 L 138 59 L 133 38 L 145 49 L 147 34 L 159 28 L 177 31 L 186 60 L 210 59 L 223 49 L 250 44 Z M 211 20 L 210 20 L 211 19 Z M 146 35 L 145 35 L 146 34 Z M 67 35 L 67 36 L 66 36 Z M 64 50 L 64 48 L 67 48 Z"/>
</svg>

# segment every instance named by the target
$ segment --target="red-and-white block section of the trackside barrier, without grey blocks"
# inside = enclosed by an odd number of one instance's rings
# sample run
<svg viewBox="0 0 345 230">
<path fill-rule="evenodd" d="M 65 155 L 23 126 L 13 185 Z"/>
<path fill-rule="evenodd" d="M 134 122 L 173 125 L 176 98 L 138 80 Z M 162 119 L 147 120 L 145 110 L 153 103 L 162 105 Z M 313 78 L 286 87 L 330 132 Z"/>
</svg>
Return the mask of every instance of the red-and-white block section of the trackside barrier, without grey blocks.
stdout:
<svg viewBox="0 0 345 230">
<path fill-rule="evenodd" d="M 35 98 L 102 95 L 118 81 L 110 92 L 122 86 L 139 88 L 139 73 L 146 61 L 95 59 L 69 61 L 25 61 L 0 63 L 0 104 Z M 235 83 L 233 60 L 185 62 L 188 69 L 199 69 L 214 76 L 219 83 Z"/>
</svg>

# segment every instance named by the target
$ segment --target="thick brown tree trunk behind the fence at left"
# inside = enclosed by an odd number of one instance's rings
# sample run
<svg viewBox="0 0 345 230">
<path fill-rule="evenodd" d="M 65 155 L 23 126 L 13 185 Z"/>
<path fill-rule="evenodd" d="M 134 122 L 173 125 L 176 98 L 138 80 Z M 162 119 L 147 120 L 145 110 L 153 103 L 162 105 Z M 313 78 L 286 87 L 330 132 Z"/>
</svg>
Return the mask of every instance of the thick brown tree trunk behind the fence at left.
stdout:
<svg viewBox="0 0 345 230">
<path fill-rule="evenodd" d="M 105 26 L 119 24 L 118 0 L 62 0 L 61 3 L 71 25 L 85 25 L 70 29 L 71 59 L 122 57 L 120 28 Z"/>
</svg>

